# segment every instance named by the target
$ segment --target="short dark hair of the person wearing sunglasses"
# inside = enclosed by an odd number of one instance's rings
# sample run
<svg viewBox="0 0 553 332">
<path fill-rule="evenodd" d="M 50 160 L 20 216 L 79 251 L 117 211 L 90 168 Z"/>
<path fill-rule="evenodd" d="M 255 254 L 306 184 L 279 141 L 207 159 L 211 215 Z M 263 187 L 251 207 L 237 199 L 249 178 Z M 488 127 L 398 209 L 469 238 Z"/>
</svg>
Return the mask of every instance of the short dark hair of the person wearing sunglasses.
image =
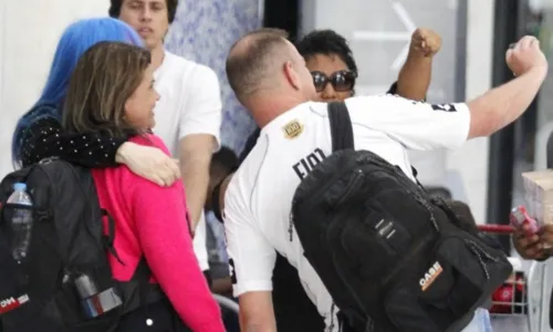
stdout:
<svg viewBox="0 0 553 332">
<path fill-rule="evenodd" d="M 346 39 L 334 30 L 312 31 L 303 37 L 295 46 L 305 60 L 316 54 L 336 54 L 351 71 L 357 73 L 357 64 L 353 59 L 352 49 L 349 49 Z"/>
</svg>

